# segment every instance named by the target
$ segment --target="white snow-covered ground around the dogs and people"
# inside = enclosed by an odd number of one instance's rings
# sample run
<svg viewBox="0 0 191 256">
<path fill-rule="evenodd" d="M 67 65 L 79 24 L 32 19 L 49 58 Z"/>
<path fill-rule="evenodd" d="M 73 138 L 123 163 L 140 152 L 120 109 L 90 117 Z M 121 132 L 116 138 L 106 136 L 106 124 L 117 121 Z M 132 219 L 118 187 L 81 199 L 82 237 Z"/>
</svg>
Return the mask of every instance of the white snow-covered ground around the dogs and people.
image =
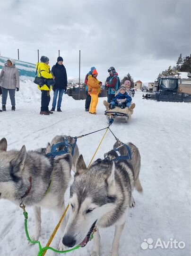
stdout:
<svg viewBox="0 0 191 256">
<path fill-rule="evenodd" d="M 136 92 L 133 101 L 136 108 L 129 123 L 115 121 L 113 133 L 122 142 L 132 142 L 140 151 L 140 181 L 143 194 L 134 192 L 136 207 L 130 209 L 127 224 L 120 241 L 120 256 L 189 256 L 190 255 L 190 142 L 191 104 L 142 100 L 142 92 Z M 61 109 L 50 116 L 41 116 L 40 91 L 31 81 L 21 82 L 16 92 L 16 111 L 0 112 L 0 138 L 8 140 L 8 150 L 45 147 L 55 135 L 79 136 L 107 126 L 104 116 L 104 98 L 99 98 L 97 115 L 85 112 L 85 101 L 74 101 L 64 95 Z M 52 100 L 51 100 L 52 103 Z M 78 147 L 87 165 L 104 135 L 104 131 L 78 139 Z M 113 147 L 115 139 L 108 132 L 96 158 Z M 96 159 L 95 158 L 95 159 Z M 68 201 L 67 193 L 66 201 Z M 29 214 L 29 234 L 33 233 L 33 211 Z M 0 256 L 36 256 L 38 246 L 29 246 L 24 230 L 24 217 L 18 205 L 0 200 Z M 42 210 L 42 236 L 45 246 L 57 219 L 49 210 Z M 101 255 L 108 256 L 114 228 L 101 230 Z M 60 234 L 52 247 L 57 247 Z M 144 239 L 152 238 L 148 247 Z M 154 248 L 157 239 L 158 247 Z M 171 239 L 171 240 L 170 240 Z M 180 247 L 172 246 L 172 239 Z M 163 241 L 168 248 L 164 247 Z M 151 239 L 148 242 L 152 242 Z M 68 255 L 88 256 L 93 242 Z M 142 248 L 141 248 L 142 244 Z M 161 245 L 161 246 L 160 246 Z M 170 246 L 171 245 L 171 246 Z M 153 246 L 153 247 L 152 247 Z M 171 248 L 172 247 L 172 248 Z M 47 256 L 56 255 L 48 251 Z"/>
</svg>

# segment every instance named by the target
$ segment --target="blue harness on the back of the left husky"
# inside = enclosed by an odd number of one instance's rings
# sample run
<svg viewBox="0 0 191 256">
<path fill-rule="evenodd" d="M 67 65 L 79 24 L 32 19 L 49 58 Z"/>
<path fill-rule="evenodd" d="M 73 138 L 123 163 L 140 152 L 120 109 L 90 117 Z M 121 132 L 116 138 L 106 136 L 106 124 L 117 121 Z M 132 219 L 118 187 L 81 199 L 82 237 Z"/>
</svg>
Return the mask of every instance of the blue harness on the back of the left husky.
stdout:
<svg viewBox="0 0 191 256">
<path fill-rule="evenodd" d="M 76 146 L 76 142 L 77 142 L 77 137 L 74 137 L 75 142 L 74 144 L 69 144 L 68 143 L 68 139 L 63 137 L 63 142 L 57 143 L 57 144 L 53 144 L 51 147 L 51 152 L 46 154 L 46 156 L 52 156 L 53 158 L 57 155 L 64 155 L 68 153 L 68 147 L 71 146 L 72 147 L 72 152 L 71 155 L 74 155 L 74 150 L 75 150 L 75 146 Z M 58 151 L 59 147 L 63 147 L 63 150 Z"/>
</svg>

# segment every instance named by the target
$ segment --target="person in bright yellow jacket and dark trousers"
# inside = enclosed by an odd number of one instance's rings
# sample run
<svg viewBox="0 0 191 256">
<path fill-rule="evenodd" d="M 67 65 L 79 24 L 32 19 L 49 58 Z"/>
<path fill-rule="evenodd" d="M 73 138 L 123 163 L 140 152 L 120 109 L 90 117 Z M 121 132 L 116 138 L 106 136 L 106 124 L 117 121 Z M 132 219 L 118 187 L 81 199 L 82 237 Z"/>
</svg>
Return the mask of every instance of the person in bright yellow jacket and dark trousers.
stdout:
<svg viewBox="0 0 191 256">
<path fill-rule="evenodd" d="M 36 64 L 38 77 L 42 76 L 43 78 L 46 78 L 46 79 L 54 78 L 52 76 L 51 71 L 50 71 L 49 58 L 46 57 L 46 56 L 42 56 L 40 60 L 41 60 L 41 62 Z M 40 111 L 40 115 L 48 116 L 50 114 L 53 114 L 53 112 L 51 112 L 48 109 L 49 102 L 51 100 L 50 91 L 52 89 L 52 86 L 49 87 L 46 84 L 44 84 L 43 86 L 38 85 L 38 89 L 41 90 L 41 111 Z"/>
</svg>

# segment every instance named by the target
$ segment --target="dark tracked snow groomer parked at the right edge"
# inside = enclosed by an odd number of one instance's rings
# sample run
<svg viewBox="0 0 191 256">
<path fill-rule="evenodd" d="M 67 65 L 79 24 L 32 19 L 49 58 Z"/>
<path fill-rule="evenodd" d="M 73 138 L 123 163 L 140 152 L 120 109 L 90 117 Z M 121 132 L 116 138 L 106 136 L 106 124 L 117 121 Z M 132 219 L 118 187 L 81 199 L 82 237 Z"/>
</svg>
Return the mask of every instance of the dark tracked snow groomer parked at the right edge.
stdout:
<svg viewBox="0 0 191 256">
<path fill-rule="evenodd" d="M 191 102 L 191 95 L 178 91 L 178 77 L 161 76 L 153 92 L 143 94 L 143 99 L 170 102 Z"/>
</svg>

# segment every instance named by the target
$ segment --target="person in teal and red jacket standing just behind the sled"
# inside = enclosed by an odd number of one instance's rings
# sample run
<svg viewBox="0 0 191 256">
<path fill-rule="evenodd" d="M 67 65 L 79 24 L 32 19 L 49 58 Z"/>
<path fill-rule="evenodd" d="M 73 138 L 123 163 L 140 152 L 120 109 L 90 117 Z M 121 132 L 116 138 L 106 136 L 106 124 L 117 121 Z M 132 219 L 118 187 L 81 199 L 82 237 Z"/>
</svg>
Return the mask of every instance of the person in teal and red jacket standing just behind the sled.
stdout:
<svg viewBox="0 0 191 256">
<path fill-rule="evenodd" d="M 119 89 L 121 82 L 114 67 L 110 67 L 107 71 L 109 76 L 106 79 L 105 87 L 107 89 L 107 102 L 110 103 L 115 97 L 115 92 Z"/>
</svg>

